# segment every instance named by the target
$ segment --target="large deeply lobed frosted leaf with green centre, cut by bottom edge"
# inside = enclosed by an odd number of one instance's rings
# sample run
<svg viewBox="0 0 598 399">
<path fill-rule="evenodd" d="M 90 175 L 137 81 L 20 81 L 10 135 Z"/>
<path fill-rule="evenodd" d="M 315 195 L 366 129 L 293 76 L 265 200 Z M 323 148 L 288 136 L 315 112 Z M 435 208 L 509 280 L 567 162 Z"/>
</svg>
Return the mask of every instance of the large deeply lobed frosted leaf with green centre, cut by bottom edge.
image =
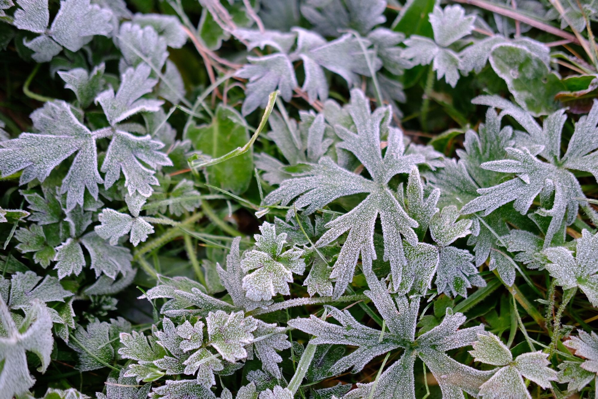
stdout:
<svg viewBox="0 0 598 399">
<path fill-rule="evenodd" d="M 422 359 L 434 374 L 443 397 L 463 398 L 463 391 L 478 395 L 480 385 L 486 382 L 493 372 L 478 371 L 460 364 L 445 352 L 472 344 L 477 339 L 477 334 L 483 333 L 483 326 L 459 330 L 459 326 L 465 322 L 465 316 L 461 313 L 453 314 L 447 309 L 440 325 L 416 338 L 419 298 L 408 300 L 404 295 L 389 294 L 383 280 L 379 281 L 371 270 L 364 273 L 370 288 L 365 294 L 371 298 L 385 319 L 388 333 L 380 334 L 379 330 L 359 324 L 347 310 L 341 312 L 330 306 L 326 306 L 327 314 L 337 319 L 340 325 L 330 324 L 315 316 L 309 319 L 294 319 L 288 323 L 291 327 L 315 335 L 311 343 L 348 344 L 358 347 L 339 359 L 331 372 L 340 373 L 351 366 L 353 372 L 357 372 L 374 357 L 389 350 L 403 348 L 401 358 L 380 375 L 373 397 L 415 398 L 413 367 L 417 357 Z M 374 383 L 358 383 L 358 388 L 350 391 L 346 398 L 367 398 L 373 387 Z"/>
</svg>

